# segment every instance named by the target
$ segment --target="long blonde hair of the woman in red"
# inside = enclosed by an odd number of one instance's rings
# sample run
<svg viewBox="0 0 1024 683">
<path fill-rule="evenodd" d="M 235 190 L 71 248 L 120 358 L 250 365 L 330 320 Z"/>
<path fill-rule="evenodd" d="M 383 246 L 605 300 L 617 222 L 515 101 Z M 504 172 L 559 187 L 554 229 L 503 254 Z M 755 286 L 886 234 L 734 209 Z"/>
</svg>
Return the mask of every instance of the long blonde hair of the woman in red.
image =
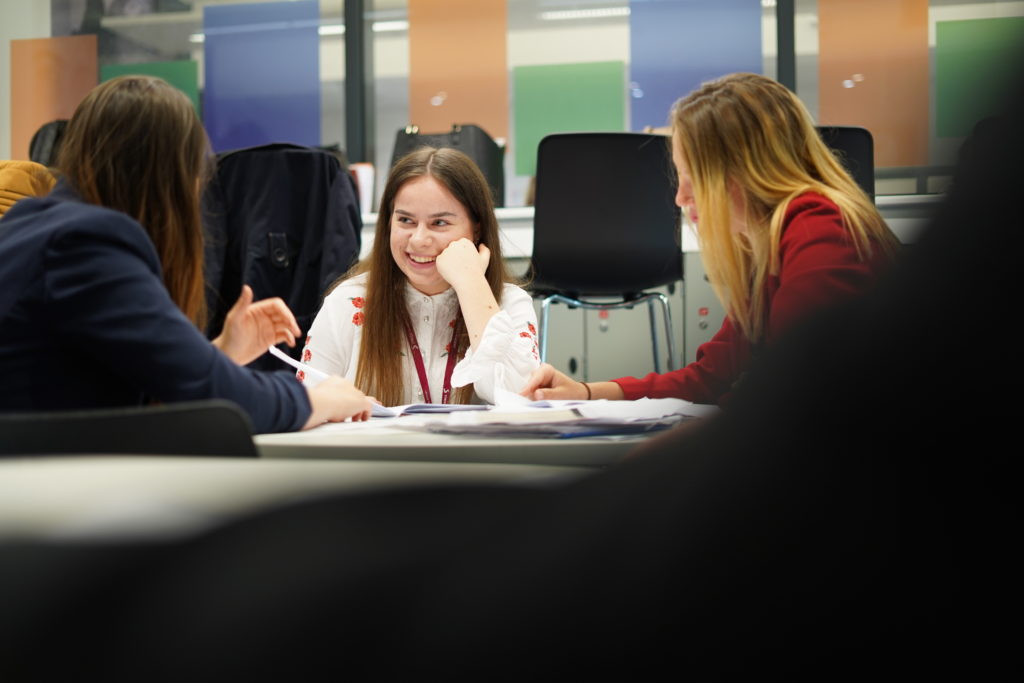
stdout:
<svg viewBox="0 0 1024 683">
<path fill-rule="evenodd" d="M 858 256 L 898 242 L 882 215 L 818 136 L 803 103 L 779 83 L 733 74 L 705 83 L 672 110 L 672 140 L 689 169 L 708 278 L 730 319 L 752 341 L 764 336 L 765 285 L 778 273 L 785 213 L 805 193 L 840 209 Z M 733 216 L 738 193 L 745 215 Z M 733 230 L 733 221 L 745 230 Z"/>
</svg>

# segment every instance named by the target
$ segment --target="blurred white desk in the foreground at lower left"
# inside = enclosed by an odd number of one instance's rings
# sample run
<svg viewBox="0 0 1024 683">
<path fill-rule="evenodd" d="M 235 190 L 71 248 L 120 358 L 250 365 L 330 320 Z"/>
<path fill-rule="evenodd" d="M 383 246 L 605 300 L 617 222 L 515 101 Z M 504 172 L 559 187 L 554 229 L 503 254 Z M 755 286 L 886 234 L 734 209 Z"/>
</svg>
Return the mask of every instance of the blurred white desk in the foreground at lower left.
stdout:
<svg viewBox="0 0 1024 683">
<path fill-rule="evenodd" d="M 141 456 L 0 459 L 0 542 L 173 538 L 338 493 L 438 483 L 548 485 L 581 467 Z"/>
</svg>

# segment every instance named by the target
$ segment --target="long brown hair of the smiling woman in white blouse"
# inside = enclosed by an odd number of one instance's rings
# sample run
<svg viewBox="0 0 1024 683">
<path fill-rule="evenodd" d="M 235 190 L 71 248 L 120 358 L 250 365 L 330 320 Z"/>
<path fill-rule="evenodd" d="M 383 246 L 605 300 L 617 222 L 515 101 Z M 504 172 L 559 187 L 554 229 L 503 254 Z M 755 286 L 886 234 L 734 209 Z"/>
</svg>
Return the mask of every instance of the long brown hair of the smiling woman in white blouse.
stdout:
<svg viewBox="0 0 1024 683">
<path fill-rule="evenodd" d="M 391 214 L 401 186 L 425 175 L 452 193 L 477 225 L 479 243 L 490 250 L 485 278 L 499 303 L 504 284 L 513 282 L 502 258 L 490 189 L 476 164 L 463 153 L 450 148 L 421 147 L 400 159 L 384 186 L 373 251 L 351 273 L 369 271 L 355 384 L 385 405 L 399 403 L 404 391 L 400 354 L 406 343 L 404 326 L 410 319 L 406 306 L 406 275 L 391 256 Z M 462 355 L 469 346 L 469 336 L 461 316 L 459 321 L 458 348 L 450 352 Z M 472 394 L 472 386 L 462 387 L 455 392 L 455 402 L 468 403 Z"/>
</svg>

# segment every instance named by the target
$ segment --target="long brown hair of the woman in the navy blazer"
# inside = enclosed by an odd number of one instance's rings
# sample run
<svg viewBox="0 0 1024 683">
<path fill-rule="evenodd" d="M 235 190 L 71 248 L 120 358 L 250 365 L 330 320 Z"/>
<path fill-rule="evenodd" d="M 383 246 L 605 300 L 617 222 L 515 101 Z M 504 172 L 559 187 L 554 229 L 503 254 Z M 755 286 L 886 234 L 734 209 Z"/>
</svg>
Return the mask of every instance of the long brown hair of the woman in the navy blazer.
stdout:
<svg viewBox="0 0 1024 683">
<path fill-rule="evenodd" d="M 199 190 L 209 159 L 191 101 L 152 76 L 121 76 L 93 88 L 68 123 L 57 159 L 84 201 L 142 225 L 171 299 L 200 329 L 206 298 Z"/>
</svg>

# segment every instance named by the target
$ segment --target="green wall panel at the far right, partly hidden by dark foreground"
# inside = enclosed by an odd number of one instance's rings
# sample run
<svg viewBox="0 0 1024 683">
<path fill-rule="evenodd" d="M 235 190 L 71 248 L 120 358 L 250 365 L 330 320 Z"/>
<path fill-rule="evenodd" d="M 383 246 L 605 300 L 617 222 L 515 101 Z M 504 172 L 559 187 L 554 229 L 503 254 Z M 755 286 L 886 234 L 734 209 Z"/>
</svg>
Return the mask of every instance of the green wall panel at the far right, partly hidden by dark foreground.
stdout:
<svg viewBox="0 0 1024 683">
<path fill-rule="evenodd" d="M 1019 67 L 1024 17 L 935 24 L 935 125 L 938 137 L 963 137 L 998 111 L 999 86 Z"/>
</svg>

